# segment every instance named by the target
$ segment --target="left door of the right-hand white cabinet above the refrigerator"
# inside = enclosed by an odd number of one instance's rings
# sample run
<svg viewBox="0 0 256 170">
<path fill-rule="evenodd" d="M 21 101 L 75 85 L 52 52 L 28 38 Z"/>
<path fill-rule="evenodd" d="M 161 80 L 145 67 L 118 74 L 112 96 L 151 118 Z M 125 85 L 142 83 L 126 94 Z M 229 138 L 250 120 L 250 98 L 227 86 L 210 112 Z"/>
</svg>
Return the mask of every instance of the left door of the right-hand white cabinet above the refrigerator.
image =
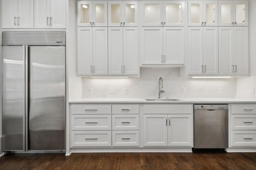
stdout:
<svg viewBox="0 0 256 170">
<path fill-rule="evenodd" d="M 50 0 L 34 0 L 34 27 L 50 28 Z"/>
</svg>

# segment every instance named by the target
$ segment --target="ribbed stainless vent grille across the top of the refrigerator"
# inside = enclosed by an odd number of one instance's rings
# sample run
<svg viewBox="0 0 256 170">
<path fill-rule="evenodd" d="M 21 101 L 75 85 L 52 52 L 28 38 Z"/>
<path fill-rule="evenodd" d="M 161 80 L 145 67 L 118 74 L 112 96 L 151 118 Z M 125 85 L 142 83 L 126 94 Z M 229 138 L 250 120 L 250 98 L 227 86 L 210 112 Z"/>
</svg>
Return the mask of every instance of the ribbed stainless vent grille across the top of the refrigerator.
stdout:
<svg viewBox="0 0 256 170">
<path fill-rule="evenodd" d="M 4 31 L 2 45 L 65 45 L 65 31 Z"/>
</svg>

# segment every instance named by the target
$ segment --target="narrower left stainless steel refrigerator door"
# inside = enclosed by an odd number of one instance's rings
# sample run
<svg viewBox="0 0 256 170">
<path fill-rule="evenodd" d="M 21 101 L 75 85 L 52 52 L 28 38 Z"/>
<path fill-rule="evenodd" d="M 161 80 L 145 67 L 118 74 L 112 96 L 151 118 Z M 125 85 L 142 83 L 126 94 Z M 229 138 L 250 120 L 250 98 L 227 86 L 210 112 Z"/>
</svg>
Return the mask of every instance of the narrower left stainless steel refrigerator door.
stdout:
<svg viewBox="0 0 256 170">
<path fill-rule="evenodd" d="M 25 46 L 2 47 L 2 150 L 25 150 Z"/>
</svg>

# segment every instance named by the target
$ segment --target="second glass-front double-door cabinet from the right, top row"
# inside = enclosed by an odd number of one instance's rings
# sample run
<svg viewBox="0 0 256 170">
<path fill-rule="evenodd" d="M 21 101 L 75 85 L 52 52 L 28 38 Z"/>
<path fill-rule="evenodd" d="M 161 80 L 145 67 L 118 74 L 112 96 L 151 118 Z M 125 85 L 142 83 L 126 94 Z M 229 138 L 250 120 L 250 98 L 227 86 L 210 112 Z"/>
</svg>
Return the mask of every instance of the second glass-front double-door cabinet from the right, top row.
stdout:
<svg viewBox="0 0 256 170">
<path fill-rule="evenodd" d="M 218 1 L 189 1 L 188 26 L 218 26 Z"/>
</svg>

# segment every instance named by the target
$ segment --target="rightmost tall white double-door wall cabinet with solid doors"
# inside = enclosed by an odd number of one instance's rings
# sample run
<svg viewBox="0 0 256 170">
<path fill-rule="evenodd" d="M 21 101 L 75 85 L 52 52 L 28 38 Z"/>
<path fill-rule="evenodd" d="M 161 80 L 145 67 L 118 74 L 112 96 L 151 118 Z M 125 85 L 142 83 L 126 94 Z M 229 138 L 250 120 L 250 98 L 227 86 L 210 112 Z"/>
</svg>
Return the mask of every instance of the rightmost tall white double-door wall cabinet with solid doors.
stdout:
<svg viewBox="0 0 256 170">
<path fill-rule="evenodd" d="M 219 27 L 219 74 L 249 74 L 248 27 Z"/>
</svg>

